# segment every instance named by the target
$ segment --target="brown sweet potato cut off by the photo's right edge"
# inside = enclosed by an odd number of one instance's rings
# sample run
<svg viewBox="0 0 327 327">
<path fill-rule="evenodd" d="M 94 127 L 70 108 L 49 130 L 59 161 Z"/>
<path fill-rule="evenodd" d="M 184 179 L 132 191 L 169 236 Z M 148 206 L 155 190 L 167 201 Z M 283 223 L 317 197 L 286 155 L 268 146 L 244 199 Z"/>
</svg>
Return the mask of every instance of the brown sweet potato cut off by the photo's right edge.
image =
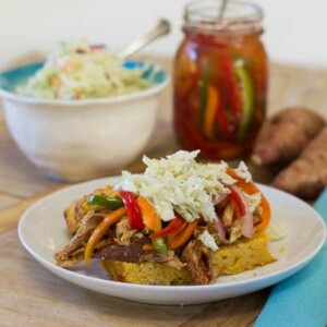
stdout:
<svg viewBox="0 0 327 327">
<path fill-rule="evenodd" d="M 315 198 L 327 185 L 327 128 L 289 167 L 279 172 L 272 186 L 305 199 Z"/>
</svg>

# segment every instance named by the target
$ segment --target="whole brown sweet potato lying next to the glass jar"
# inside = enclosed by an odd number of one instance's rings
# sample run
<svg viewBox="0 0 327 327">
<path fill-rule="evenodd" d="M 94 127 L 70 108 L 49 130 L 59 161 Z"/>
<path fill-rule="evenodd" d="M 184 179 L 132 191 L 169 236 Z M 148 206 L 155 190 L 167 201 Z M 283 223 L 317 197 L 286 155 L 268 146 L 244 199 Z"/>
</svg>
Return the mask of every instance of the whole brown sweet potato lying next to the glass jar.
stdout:
<svg viewBox="0 0 327 327">
<path fill-rule="evenodd" d="M 252 160 L 258 166 L 284 166 L 295 159 L 325 125 L 324 118 L 307 108 L 286 108 L 263 125 Z"/>
</svg>

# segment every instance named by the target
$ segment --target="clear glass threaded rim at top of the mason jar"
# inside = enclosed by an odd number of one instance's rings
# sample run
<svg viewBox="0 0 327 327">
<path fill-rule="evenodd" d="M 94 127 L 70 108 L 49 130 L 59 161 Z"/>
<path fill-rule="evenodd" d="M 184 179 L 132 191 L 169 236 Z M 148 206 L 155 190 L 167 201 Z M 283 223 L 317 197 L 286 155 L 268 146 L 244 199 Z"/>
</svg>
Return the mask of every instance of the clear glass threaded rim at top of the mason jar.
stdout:
<svg viewBox="0 0 327 327">
<path fill-rule="evenodd" d="M 184 28 L 205 32 L 259 31 L 262 9 L 252 2 L 228 0 L 221 14 L 223 0 L 197 0 L 185 5 Z"/>
</svg>

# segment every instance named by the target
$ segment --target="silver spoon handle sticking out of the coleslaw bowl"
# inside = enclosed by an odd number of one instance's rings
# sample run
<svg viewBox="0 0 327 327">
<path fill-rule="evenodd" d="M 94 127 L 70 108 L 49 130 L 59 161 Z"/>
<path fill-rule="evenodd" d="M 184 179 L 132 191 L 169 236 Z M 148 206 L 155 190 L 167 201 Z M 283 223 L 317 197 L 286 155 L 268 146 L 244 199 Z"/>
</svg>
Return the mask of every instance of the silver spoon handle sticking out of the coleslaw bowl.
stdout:
<svg viewBox="0 0 327 327">
<path fill-rule="evenodd" d="M 119 56 L 121 58 L 128 58 L 158 37 L 168 34 L 169 31 L 169 22 L 167 20 L 160 19 L 155 22 L 155 24 L 152 25 L 144 34 L 140 35 L 129 47 L 123 49 L 119 53 Z"/>
</svg>

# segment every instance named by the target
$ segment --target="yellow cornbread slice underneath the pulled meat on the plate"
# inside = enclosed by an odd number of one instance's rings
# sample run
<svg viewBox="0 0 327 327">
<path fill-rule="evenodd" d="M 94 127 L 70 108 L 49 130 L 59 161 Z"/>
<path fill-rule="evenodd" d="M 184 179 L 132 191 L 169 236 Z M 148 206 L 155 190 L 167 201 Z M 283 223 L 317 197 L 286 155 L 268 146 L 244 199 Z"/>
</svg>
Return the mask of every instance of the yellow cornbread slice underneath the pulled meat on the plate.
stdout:
<svg viewBox="0 0 327 327">
<path fill-rule="evenodd" d="M 261 233 L 251 240 L 220 246 L 214 254 L 214 274 L 216 278 L 222 275 L 234 275 L 275 261 L 268 251 L 268 238 Z M 135 264 L 118 261 L 102 261 L 101 264 L 112 280 L 161 286 L 192 283 L 185 267 L 177 269 L 159 263 Z"/>
</svg>

